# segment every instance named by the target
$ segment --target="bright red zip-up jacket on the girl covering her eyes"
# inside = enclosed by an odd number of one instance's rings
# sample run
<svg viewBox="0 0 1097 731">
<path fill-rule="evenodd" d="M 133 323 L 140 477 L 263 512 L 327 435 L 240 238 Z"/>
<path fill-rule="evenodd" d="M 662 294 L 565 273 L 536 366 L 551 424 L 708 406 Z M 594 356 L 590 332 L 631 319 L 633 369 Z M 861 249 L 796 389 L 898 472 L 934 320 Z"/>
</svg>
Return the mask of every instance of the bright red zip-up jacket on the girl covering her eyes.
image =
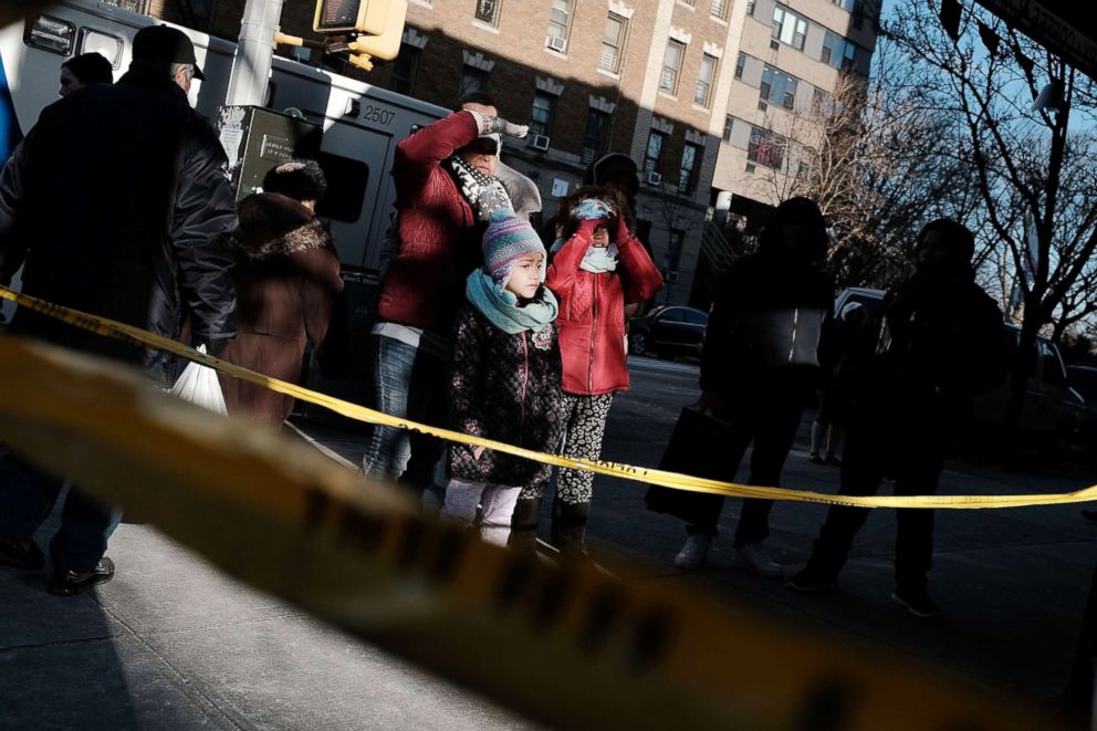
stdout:
<svg viewBox="0 0 1097 731">
<path fill-rule="evenodd" d="M 560 300 L 556 327 L 564 391 L 595 396 L 628 388 L 625 305 L 662 289 L 662 274 L 634 237 L 617 242 L 617 271 L 579 269 L 591 237 L 576 232 L 548 264 L 546 284 Z"/>
</svg>

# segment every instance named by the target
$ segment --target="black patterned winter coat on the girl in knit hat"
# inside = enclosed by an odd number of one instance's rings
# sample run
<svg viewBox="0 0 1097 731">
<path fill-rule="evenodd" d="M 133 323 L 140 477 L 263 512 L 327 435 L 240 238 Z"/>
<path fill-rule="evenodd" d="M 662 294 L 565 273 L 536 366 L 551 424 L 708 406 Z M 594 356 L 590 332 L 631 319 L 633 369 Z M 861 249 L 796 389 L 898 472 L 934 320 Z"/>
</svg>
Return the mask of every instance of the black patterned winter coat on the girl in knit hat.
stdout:
<svg viewBox="0 0 1097 731">
<path fill-rule="evenodd" d="M 562 429 L 560 344 L 556 326 L 510 335 L 471 304 L 458 313 L 450 368 L 453 428 L 535 451 L 555 452 Z M 450 477 L 515 488 L 544 484 L 541 462 L 451 445 Z"/>
</svg>

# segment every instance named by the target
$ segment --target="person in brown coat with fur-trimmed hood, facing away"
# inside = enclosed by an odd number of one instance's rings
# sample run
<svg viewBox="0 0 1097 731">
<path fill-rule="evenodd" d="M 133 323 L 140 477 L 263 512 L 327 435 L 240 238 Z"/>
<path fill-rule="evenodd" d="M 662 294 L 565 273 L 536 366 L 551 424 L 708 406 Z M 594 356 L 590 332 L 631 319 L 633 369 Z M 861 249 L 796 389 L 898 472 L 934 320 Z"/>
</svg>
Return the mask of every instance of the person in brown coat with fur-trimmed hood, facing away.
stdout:
<svg viewBox="0 0 1097 731">
<path fill-rule="evenodd" d="M 321 348 L 343 291 L 339 260 L 327 224 L 313 212 L 323 196 L 315 163 L 274 168 L 263 188 L 240 201 L 240 227 L 231 236 L 239 258 L 233 273 L 237 336 L 221 357 L 296 383 L 306 341 Z M 250 413 L 281 429 L 293 408 L 291 396 L 236 378 L 220 379 L 230 414 Z"/>
</svg>

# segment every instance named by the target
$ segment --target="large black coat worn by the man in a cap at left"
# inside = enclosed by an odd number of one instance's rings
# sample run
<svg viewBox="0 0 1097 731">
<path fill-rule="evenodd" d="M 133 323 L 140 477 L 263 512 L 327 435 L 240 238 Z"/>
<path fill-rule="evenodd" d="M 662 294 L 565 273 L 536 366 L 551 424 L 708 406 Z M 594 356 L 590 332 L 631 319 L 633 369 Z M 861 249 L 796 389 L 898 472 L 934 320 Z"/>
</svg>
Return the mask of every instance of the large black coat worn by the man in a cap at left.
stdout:
<svg viewBox="0 0 1097 731">
<path fill-rule="evenodd" d="M 167 76 L 137 69 L 43 109 L 0 174 L 0 280 L 23 292 L 177 337 L 233 334 L 236 226 L 224 152 Z M 168 356 L 19 310 L 12 333 L 143 364 Z"/>
</svg>

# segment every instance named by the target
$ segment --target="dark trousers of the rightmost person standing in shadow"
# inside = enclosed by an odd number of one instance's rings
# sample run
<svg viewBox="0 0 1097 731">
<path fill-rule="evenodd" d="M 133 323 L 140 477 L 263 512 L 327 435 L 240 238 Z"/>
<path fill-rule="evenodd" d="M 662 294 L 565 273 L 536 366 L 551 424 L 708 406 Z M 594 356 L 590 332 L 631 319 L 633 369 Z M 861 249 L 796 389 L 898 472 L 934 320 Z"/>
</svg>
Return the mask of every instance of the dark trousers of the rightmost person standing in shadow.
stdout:
<svg viewBox="0 0 1097 731">
<path fill-rule="evenodd" d="M 854 420 L 846 432 L 840 495 L 874 495 L 885 471 L 895 478 L 896 495 L 936 494 L 950 441 L 949 421 L 911 411 Z M 815 541 L 809 564 L 837 574 L 868 508 L 832 507 Z M 895 577 L 900 586 L 924 586 L 933 557 L 933 511 L 897 509 Z"/>
</svg>

